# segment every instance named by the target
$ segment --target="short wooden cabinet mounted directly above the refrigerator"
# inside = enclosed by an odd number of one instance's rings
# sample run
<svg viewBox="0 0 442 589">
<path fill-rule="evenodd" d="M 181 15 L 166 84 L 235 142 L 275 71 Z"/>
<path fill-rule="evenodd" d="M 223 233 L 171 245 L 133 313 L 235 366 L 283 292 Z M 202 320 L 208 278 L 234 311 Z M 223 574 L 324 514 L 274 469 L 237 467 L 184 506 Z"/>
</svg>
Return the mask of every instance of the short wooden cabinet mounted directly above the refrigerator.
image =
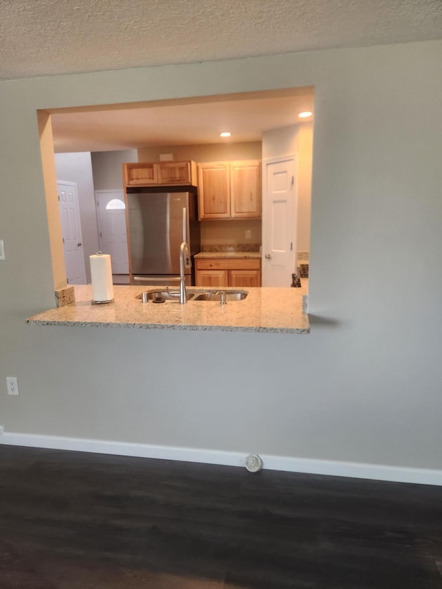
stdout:
<svg viewBox="0 0 442 589">
<path fill-rule="evenodd" d="M 196 186 L 195 162 L 140 162 L 123 164 L 124 186 Z"/>
</svg>

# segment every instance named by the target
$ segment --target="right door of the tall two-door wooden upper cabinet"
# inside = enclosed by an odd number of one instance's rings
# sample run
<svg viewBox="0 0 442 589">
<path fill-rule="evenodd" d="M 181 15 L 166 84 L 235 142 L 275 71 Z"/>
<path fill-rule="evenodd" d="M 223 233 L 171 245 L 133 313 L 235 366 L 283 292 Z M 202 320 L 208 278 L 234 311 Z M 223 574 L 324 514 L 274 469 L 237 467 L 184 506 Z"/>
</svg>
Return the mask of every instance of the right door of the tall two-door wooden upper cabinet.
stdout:
<svg viewBox="0 0 442 589">
<path fill-rule="evenodd" d="M 260 162 L 233 162 L 230 168 L 231 218 L 261 216 Z"/>
</svg>

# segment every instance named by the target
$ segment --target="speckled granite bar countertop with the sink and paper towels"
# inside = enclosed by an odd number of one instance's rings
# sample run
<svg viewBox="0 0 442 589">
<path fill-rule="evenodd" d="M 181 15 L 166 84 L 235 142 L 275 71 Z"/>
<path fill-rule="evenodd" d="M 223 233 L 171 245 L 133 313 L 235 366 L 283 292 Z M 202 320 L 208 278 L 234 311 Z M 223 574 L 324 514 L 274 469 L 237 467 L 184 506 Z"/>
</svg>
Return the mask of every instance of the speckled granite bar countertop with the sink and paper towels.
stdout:
<svg viewBox="0 0 442 589">
<path fill-rule="evenodd" d="M 33 325 L 191 329 L 201 331 L 261 331 L 308 334 L 309 318 L 302 311 L 307 282 L 302 288 L 222 289 L 248 291 L 247 298 L 220 305 L 189 300 L 186 305 L 168 300 L 160 305 L 136 298 L 158 287 L 114 286 L 115 302 L 92 305 L 92 287 L 75 286 L 75 302 L 28 318 Z M 171 287 L 171 290 L 176 288 Z M 208 289 L 189 287 L 189 292 Z"/>
</svg>

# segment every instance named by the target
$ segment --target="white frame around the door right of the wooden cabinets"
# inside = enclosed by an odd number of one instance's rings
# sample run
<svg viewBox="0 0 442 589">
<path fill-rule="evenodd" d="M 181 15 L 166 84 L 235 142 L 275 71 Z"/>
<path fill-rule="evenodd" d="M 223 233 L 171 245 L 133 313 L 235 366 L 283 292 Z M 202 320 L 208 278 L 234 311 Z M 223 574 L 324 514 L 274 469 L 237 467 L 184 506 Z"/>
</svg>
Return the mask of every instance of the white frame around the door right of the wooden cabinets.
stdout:
<svg viewBox="0 0 442 589">
<path fill-rule="evenodd" d="M 262 158 L 262 236 L 265 236 L 265 226 L 268 222 L 267 219 L 267 203 L 269 196 L 269 187 L 267 184 L 267 166 L 269 164 L 282 164 L 292 160 L 294 164 L 294 187 L 293 187 L 293 218 L 292 231 L 291 231 L 291 242 L 294 248 L 294 268 L 292 272 L 296 272 L 298 264 L 298 153 L 286 153 L 282 155 L 272 155 L 271 157 Z M 262 258 L 261 258 L 261 284 L 265 284 L 267 279 L 267 266 L 265 264 L 265 247 L 264 239 L 262 240 Z"/>
</svg>

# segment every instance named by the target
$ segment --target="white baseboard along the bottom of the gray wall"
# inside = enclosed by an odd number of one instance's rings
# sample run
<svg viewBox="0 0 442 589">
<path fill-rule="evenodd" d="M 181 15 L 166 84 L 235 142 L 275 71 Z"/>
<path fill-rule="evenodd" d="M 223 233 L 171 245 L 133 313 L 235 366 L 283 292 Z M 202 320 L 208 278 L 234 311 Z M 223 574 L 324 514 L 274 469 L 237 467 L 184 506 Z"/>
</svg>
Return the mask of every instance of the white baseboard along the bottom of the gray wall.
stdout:
<svg viewBox="0 0 442 589">
<path fill-rule="evenodd" d="M 0 427 L 0 445 L 75 450 L 77 452 L 96 452 L 98 454 L 117 454 L 119 456 L 161 458 L 163 460 L 241 467 L 244 467 L 247 458 L 247 454 L 242 452 L 199 450 L 198 448 L 87 440 L 84 438 L 43 436 L 38 434 L 17 434 L 10 432 L 3 432 L 1 434 L 2 429 Z M 315 458 L 294 458 L 291 456 L 271 456 L 271 454 L 260 454 L 260 457 L 262 458 L 263 467 L 266 470 L 349 476 L 354 479 L 442 486 L 442 470 L 318 460 Z"/>
</svg>

